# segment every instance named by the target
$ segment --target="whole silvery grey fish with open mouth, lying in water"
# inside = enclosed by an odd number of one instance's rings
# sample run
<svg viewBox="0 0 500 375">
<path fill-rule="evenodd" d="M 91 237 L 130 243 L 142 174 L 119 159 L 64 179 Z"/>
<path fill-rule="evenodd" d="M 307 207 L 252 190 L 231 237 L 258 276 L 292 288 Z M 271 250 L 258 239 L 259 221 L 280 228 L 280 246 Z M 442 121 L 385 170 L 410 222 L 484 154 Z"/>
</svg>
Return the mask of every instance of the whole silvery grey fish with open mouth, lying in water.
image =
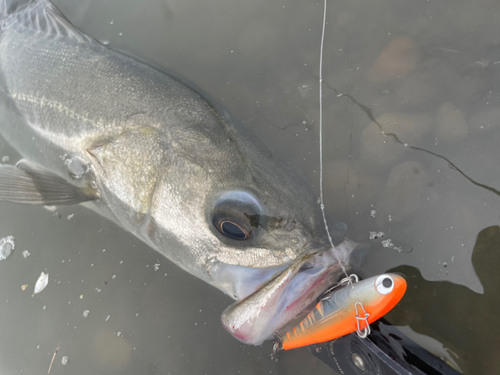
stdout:
<svg viewBox="0 0 500 375">
<path fill-rule="evenodd" d="M 223 321 L 247 314 L 230 332 L 253 345 L 363 258 L 328 216 L 332 248 L 311 188 L 194 84 L 48 0 L 2 0 L 0 25 L 0 132 L 23 158 L 0 166 L 0 200 L 94 209 L 235 299 Z"/>
</svg>

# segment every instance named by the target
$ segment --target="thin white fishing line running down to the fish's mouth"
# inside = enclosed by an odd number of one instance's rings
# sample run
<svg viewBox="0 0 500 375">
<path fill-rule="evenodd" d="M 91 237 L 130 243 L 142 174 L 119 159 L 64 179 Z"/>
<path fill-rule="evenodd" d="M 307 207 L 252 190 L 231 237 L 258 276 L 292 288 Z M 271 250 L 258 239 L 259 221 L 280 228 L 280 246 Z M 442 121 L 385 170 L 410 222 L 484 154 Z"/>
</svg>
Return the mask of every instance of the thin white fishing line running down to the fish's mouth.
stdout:
<svg viewBox="0 0 500 375">
<path fill-rule="evenodd" d="M 332 236 L 330 235 L 330 229 L 328 228 L 328 223 L 326 222 L 325 214 L 325 204 L 323 202 L 323 46 L 325 42 L 325 27 L 326 27 L 326 2 L 324 0 L 323 5 L 323 27 L 321 29 L 321 46 L 319 49 L 319 202 L 321 213 L 323 215 L 323 223 L 325 224 L 326 234 L 328 235 L 328 241 L 332 246 L 332 253 L 337 262 L 339 262 L 342 271 L 349 277 L 344 264 L 340 260 L 340 256 L 335 249 L 333 244 Z"/>
</svg>

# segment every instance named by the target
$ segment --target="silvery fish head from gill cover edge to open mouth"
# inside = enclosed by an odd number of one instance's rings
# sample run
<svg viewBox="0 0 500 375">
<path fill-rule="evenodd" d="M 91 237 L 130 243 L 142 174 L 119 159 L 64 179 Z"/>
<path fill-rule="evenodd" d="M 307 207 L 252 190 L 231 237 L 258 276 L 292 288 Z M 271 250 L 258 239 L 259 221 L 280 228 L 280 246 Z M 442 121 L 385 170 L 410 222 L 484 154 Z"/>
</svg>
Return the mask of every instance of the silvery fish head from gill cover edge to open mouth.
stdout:
<svg viewBox="0 0 500 375">
<path fill-rule="evenodd" d="M 232 333 L 260 344 L 314 305 L 348 266 L 352 246 L 344 246 L 342 259 L 335 256 L 304 180 L 242 127 L 211 113 L 183 112 L 189 118 L 168 127 L 135 127 L 89 153 L 100 168 L 101 194 L 122 225 L 246 301 L 235 315 L 245 310 L 256 319 L 245 333 Z M 334 245 L 344 243 L 345 225 L 325 218 Z"/>
</svg>

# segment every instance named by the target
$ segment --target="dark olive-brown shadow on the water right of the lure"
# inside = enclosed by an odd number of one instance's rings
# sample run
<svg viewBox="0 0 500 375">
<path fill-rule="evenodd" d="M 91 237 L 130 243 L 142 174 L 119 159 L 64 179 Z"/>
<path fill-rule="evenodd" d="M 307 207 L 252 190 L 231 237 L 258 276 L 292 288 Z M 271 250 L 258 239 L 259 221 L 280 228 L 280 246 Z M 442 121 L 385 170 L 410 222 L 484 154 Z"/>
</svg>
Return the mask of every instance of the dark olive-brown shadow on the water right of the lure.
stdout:
<svg viewBox="0 0 500 375">
<path fill-rule="evenodd" d="M 500 227 L 483 229 L 472 254 L 484 294 L 447 281 L 431 282 L 420 271 L 400 266 L 408 290 L 387 319 L 434 337 L 459 357 L 466 374 L 500 373 Z"/>
</svg>

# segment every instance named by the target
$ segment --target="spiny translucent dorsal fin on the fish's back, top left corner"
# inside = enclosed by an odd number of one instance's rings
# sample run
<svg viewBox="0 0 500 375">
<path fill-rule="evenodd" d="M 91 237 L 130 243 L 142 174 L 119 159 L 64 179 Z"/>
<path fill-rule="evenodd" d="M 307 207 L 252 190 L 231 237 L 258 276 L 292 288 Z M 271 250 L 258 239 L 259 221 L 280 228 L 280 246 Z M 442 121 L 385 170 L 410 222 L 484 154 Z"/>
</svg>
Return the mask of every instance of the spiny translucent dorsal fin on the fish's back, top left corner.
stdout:
<svg viewBox="0 0 500 375">
<path fill-rule="evenodd" d="M 27 28 L 54 37 L 75 38 L 79 42 L 93 41 L 48 0 L 34 0 L 27 4 L 21 4 L 19 0 L 0 0 L 0 20 L 2 30 Z"/>
</svg>

